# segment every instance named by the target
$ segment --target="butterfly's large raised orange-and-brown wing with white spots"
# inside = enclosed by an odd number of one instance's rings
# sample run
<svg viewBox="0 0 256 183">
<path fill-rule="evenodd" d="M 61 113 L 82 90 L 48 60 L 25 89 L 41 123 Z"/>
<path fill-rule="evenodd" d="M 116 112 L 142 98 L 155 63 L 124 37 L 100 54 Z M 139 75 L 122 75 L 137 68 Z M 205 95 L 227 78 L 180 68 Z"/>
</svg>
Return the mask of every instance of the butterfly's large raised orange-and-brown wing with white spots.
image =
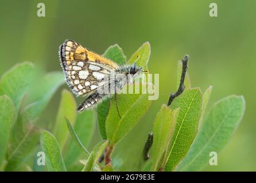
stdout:
<svg viewBox="0 0 256 183">
<path fill-rule="evenodd" d="M 77 96 L 95 92 L 111 71 L 119 69 L 117 63 L 71 40 L 60 46 L 59 56 L 66 82 Z"/>
</svg>

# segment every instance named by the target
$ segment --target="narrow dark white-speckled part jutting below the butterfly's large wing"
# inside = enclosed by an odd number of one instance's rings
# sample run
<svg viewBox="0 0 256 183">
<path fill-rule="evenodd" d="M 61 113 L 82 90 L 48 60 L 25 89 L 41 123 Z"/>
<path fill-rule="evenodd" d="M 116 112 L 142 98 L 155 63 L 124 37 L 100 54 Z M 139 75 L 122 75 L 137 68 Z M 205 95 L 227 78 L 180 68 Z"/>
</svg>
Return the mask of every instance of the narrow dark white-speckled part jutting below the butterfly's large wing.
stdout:
<svg viewBox="0 0 256 183">
<path fill-rule="evenodd" d="M 77 112 L 80 113 L 83 112 L 83 110 L 90 109 L 92 106 L 98 104 L 98 102 L 101 101 L 103 97 L 104 96 L 100 95 L 98 92 L 90 94 L 90 96 L 88 96 L 86 100 L 83 101 L 82 104 L 80 104 L 80 106 L 77 108 Z"/>
</svg>

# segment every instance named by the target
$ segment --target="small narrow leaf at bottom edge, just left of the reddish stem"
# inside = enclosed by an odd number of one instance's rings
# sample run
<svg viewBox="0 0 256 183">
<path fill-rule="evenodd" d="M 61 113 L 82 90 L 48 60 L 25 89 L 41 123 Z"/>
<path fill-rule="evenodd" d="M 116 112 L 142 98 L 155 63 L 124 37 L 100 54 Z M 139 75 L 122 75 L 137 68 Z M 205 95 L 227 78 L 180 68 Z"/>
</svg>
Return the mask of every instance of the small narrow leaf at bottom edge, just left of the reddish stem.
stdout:
<svg viewBox="0 0 256 183">
<path fill-rule="evenodd" d="M 83 172 L 91 172 L 91 170 L 94 168 L 95 162 L 98 161 L 107 144 L 107 140 L 102 140 L 95 146 L 86 162 L 86 165 L 83 168 Z"/>
</svg>

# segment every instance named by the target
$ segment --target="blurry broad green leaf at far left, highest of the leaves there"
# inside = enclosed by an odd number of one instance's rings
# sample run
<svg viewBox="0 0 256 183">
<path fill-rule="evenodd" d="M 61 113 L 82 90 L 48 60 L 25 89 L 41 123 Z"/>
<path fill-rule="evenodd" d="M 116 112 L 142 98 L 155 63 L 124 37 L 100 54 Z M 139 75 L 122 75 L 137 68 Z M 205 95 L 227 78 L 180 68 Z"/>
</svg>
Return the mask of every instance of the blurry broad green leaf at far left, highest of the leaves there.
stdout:
<svg viewBox="0 0 256 183">
<path fill-rule="evenodd" d="M 23 62 L 7 71 L 0 81 L 0 96 L 6 94 L 13 101 L 15 113 L 18 112 L 22 98 L 32 82 L 33 65 Z"/>
</svg>

